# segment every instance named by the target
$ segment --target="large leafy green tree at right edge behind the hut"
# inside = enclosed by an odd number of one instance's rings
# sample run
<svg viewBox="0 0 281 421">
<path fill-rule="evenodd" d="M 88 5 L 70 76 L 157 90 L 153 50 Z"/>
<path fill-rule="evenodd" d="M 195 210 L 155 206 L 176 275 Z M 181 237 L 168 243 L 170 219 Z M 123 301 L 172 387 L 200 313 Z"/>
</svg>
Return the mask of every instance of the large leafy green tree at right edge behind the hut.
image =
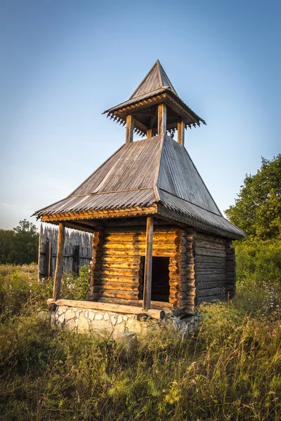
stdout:
<svg viewBox="0 0 281 421">
<path fill-rule="evenodd" d="M 249 236 L 260 239 L 281 237 L 281 154 L 261 158 L 261 168 L 247 175 L 235 205 L 226 216 Z"/>
</svg>

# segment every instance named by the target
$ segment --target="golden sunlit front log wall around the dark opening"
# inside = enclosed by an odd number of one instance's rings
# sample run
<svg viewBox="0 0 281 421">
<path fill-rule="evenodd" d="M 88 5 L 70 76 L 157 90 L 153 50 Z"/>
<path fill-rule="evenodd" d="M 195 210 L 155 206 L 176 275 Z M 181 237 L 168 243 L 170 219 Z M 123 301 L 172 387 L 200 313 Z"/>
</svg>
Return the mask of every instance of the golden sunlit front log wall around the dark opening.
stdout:
<svg viewBox="0 0 281 421">
<path fill-rule="evenodd" d="M 127 305 L 136 305 L 141 300 L 145 235 L 145 228 L 140 227 L 110 227 L 95 233 L 90 266 L 90 299 Z M 152 256 L 169 258 L 169 305 L 192 313 L 195 304 L 192 232 L 176 226 L 155 227 Z"/>
</svg>

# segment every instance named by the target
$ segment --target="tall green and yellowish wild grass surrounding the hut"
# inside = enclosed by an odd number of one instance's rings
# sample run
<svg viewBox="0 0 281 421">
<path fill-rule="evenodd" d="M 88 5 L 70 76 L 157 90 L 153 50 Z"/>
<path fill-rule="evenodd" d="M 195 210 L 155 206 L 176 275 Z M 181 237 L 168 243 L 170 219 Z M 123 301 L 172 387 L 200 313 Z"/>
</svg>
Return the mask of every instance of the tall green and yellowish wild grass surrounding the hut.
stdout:
<svg viewBox="0 0 281 421">
<path fill-rule="evenodd" d="M 0 420 L 280 420 L 280 286 L 244 278 L 232 302 L 202 305 L 200 330 L 122 345 L 55 331 L 38 310 L 52 282 L 37 267 L 0 266 Z M 86 278 L 86 276 L 85 276 Z M 63 296 L 83 298 L 65 275 Z"/>
</svg>

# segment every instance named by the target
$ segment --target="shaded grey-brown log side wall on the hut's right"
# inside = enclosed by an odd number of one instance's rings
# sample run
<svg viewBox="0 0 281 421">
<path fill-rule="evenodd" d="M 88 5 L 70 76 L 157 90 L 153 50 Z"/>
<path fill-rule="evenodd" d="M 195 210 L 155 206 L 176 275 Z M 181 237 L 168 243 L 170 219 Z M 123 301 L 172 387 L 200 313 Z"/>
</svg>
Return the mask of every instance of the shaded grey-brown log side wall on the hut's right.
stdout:
<svg viewBox="0 0 281 421">
<path fill-rule="evenodd" d="M 197 256 L 196 305 L 215 299 L 226 299 L 228 293 L 226 239 L 197 232 L 195 250 Z M 229 255 L 233 256 L 233 254 Z M 233 277 L 230 282 L 232 281 Z"/>
</svg>

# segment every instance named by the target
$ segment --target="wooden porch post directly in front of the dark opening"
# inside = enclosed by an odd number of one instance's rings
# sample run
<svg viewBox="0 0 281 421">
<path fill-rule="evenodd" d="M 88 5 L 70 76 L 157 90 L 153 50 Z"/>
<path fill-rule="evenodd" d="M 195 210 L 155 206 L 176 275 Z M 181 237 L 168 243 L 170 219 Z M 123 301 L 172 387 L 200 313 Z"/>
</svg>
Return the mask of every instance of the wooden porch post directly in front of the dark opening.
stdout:
<svg viewBox="0 0 281 421">
<path fill-rule="evenodd" d="M 145 277 L 143 283 L 143 311 L 147 312 L 151 304 L 152 287 L 152 244 L 153 244 L 153 217 L 149 216 L 146 222 L 145 241 Z"/>
</svg>

